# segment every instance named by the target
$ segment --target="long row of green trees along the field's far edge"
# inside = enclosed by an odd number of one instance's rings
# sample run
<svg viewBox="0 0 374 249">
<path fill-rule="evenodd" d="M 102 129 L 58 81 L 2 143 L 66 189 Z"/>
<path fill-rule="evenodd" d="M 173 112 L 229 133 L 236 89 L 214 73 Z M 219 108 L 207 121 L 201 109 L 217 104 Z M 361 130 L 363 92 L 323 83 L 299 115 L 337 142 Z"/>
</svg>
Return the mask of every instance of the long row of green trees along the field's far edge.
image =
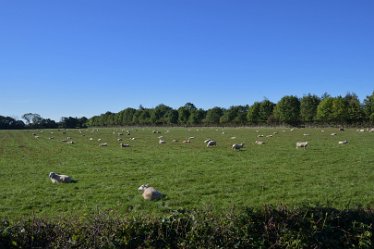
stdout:
<svg viewBox="0 0 374 249">
<path fill-rule="evenodd" d="M 86 117 L 62 117 L 60 122 L 27 113 L 22 120 L 0 116 L 0 129 L 85 128 L 87 126 L 244 126 L 244 125 L 372 125 L 374 124 L 374 91 L 361 103 L 357 95 L 332 97 L 314 94 L 298 98 L 284 96 L 277 103 L 268 99 L 253 105 L 208 110 L 186 103 L 178 109 L 160 104 L 154 108 L 139 106 L 118 113 L 106 112 Z"/>
</svg>

